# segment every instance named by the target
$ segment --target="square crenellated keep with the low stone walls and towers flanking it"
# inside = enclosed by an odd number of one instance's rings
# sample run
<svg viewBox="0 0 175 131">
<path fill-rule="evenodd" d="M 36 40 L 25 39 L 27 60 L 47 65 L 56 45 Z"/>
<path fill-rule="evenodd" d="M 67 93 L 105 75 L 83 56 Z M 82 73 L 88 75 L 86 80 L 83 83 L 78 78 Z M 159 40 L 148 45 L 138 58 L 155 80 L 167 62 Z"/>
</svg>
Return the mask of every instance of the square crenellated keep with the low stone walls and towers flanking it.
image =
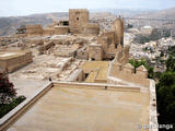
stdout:
<svg viewBox="0 0 175 131">
<path fill-rule="evenodd" d="M 25 31 L 25 32 L 24 32 Z M 51 36 L 51 35 L 67 35 L 85 34 L 98 35 L 100 25 L 89 23 L 89 11 L 86 9 L 70 9 L 69 21 L 54 21 L 51 25 L 43 28 L 42 25 L 26 25 L 26 27 L 18 28 L 16 37 L 24 36 Z"/>
</svg>

